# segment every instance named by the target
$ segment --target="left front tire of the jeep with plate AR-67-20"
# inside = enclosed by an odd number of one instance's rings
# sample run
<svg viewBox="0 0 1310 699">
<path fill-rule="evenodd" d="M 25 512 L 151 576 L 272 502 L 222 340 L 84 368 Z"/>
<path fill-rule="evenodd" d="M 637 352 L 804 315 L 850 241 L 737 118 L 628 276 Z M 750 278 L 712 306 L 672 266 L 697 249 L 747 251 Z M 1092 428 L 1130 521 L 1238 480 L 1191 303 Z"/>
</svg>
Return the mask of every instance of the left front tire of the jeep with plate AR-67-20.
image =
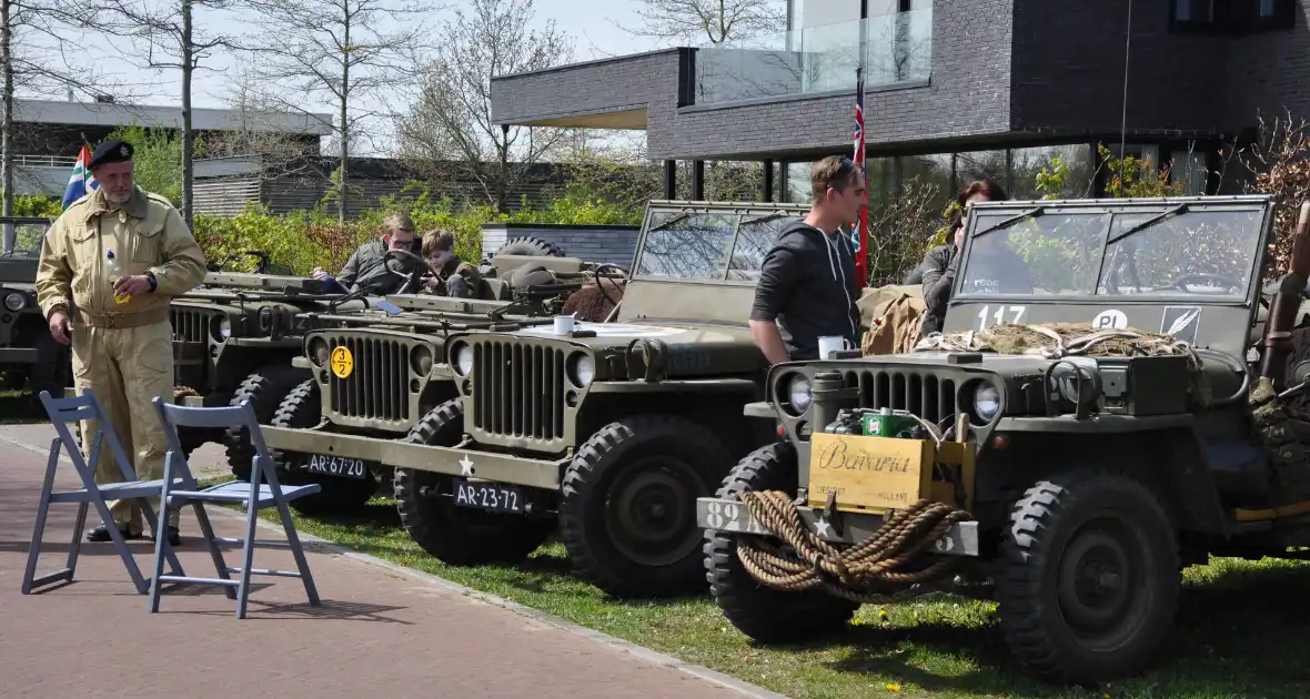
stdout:
<svg viewBox="0 0 1310 699">
<path fill-rule="evenodd" d="M 322 403 L 318 382 L 303 381 L 287 394 L 272 416 L 272 427 L 309 429 L 318 424 Z M 301 514 L 335 514 L 359 511 L 377 490 L 377 479 L 369 471 L 365 480 L 312 474 L 304 469 L 305 454 L 272 450 L 272 465 L 278 478 L 288 486 L 318 484 L 318 492 L 297 497 L 290 504 Z"/>
</svg>

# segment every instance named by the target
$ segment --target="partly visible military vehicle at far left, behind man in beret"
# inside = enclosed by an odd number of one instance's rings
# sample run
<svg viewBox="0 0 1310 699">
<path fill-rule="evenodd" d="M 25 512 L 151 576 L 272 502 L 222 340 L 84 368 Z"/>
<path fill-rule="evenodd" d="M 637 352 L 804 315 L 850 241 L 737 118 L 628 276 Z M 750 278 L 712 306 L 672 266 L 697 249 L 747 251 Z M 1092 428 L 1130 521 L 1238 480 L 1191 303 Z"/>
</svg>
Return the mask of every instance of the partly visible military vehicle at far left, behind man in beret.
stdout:
<svg viewBox="0 0 1310 699">
<path fill-rule="evenodd" d="M 72 385 L 68 347 L 55 342 L 37 305 L 37 263 L 50 224 L 42 217 L 0 217 L 0 381 L 9 389 L 26 385 L 33 397 L 43 390 L 59 395 Z"/>
</svg>

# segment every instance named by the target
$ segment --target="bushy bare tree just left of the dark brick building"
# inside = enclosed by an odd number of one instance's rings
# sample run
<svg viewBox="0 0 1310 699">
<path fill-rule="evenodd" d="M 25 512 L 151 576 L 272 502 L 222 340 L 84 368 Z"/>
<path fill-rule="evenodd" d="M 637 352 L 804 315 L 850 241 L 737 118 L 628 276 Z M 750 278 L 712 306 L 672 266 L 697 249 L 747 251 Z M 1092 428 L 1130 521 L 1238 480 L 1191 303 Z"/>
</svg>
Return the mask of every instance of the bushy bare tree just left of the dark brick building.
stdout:
<svg viewBox="0 0 1310 699">
<path fill-rule="evenodd" d="M 419 76 L 413 107 L 398 120 L 398 149 L 415 164 L 457 162 L 503 211 L 510 192 L 570 130 L 493 123 L 491 77 L 566 63 L 572 45 L 553 21 L 531 29 L 533 0 L 466 0 L 453 14 Z"/>
</svg>

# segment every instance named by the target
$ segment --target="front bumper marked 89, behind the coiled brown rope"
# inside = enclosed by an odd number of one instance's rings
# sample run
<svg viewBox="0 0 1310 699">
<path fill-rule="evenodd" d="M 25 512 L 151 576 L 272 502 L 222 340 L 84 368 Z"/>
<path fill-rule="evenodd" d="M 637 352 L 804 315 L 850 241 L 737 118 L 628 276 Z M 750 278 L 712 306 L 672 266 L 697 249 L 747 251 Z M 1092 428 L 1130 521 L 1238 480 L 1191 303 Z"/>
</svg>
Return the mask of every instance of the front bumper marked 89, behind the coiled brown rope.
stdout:
<svg viewBox="0 0 1310 699">
<path fill-rule="evenodd" d="M 876 514 L 838 512 L 832 520 L 819 509 L 798 507 L 800 521 L 811 534 L 833 543 L 859 543 L 872 535 L 883 524 Z M 769 531 L 736 500 L 718 497 L 696 499 L 696 525 L 714 531 L 762 534 Z M 960 522 L 933 543 L 931 552 L 948 556 L 979 555 L 979 524 Z"/>
</svg>

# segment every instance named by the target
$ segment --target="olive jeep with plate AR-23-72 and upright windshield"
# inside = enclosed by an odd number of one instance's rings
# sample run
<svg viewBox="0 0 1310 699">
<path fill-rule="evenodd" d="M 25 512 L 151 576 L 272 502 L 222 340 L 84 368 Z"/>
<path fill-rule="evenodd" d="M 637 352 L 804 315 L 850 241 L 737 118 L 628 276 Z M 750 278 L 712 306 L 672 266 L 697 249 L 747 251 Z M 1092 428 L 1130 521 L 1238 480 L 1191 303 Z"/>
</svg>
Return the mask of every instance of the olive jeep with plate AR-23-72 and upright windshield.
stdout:
<svg viewBox="0 0 1310 699">
<path fill-rule="evenodd" d="M 521 559 L 558 528 L 610 594 L 703 589 L 696 497 L 776 439 L 741 412 L 766 368 L 747 317 L 765 253 L 804 213 L 651 202 L 612 322 L 452 332 L 455 393 L 402 406 L 403 440 L 274 428 L 269 444 L 393 466 L 406 531 L 443 562 Z"/>
</svg>

